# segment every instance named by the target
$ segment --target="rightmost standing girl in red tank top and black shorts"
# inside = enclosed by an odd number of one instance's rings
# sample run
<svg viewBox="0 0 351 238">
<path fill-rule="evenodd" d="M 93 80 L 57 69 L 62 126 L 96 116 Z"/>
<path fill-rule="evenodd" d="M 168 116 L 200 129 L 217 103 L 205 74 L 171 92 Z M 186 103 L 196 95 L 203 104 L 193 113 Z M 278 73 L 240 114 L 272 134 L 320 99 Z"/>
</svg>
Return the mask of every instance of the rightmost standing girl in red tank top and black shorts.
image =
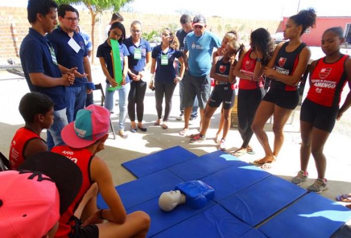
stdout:
<svg viewBox="0 0 351 238">
<path fill-rule="evenodd" d="M 301 107 L 301 170 L 292 182 L 300 185 L 307 180 L 307 165 L 312 153 L 318 178 L 307 189 L 317 193 L 328 188 L 325 179 L 327 160 L 323 154 L 324 144 L 334 128 L 335 120 L 339 120 L 351 106 L 349 92 L 339 109 L 341 93 L 347 82 L 351 89 L 351 58 L 340 52 L 340 45 L 344 42 L 341 27 L 329 28 L 323 33 L 322 50 L 326 56 L 311 64 L 310 89 Z"/>
</svg>

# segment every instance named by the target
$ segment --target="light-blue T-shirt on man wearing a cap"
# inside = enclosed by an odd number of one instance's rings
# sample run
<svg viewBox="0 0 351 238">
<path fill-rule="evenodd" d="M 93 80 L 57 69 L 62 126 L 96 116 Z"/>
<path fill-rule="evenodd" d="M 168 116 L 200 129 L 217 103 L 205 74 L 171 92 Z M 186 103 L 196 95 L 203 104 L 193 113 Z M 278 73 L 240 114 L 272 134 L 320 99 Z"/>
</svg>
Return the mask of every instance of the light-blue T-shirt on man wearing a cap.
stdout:
<svg viewBox="0 0 351 238">
<path fill-rule="evenodd" d="M 220 39 L 210 31 L 205 31 L 201 36 L 190 32 L 185 37 L 184 50 L 189 51 L 189 72 L 195 77 L 210 74 L 211 56 L 213 48 L 221 46 Z"/>
</svg>

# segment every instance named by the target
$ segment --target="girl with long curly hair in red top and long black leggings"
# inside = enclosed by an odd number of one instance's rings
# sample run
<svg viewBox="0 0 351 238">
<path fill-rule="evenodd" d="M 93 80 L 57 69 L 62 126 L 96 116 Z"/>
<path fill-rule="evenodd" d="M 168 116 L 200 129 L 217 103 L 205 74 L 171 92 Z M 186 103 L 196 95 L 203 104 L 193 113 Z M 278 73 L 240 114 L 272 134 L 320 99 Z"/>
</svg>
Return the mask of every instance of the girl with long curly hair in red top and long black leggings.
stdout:
<svg viewBox="0 0 351 238">
<path fill-rule="evenodd" d="M 243 52 L 233 72 L 240 78 L 237 117 L 238 130 L 243 140 L 240 148 L 234 151 L 236 157 L 246 152 L 254 153 L 248 145 L 253 134 L 251 124 L 265 94 L 262 72 L 273 54 L 273 42 L 266 29 L 258 28 L 252 31 L 250 38 L 251 48 Z"/>
</svg>

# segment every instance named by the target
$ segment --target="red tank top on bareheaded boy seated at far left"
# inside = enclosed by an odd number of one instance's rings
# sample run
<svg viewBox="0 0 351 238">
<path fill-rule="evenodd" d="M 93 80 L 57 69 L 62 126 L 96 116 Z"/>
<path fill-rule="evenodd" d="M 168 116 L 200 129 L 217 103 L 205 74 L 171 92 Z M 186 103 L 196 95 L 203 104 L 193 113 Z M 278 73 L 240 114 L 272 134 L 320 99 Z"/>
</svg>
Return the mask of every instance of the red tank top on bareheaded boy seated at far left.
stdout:
<svg viewBox="0 0 351 238">
<path fill-rule="evenodd" d="M 25 147 L 30 140 L 36 138 L 45 142 L 37 133 L 26 127 L 21 127 L 16 131 L 11 141 L 10 154 L 8 156 L 11 169 L 16 169 L 26 159 L 24 157 Z"/>
</svg>

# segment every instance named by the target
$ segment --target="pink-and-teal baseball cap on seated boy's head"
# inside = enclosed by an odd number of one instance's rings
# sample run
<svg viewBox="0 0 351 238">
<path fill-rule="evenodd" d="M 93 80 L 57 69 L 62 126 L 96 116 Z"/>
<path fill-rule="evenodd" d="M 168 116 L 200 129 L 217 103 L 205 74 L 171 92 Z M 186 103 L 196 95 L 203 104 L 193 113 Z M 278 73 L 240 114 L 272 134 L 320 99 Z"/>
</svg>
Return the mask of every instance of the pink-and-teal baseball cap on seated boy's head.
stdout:
<svg viewBox="0 0 351 238">
<path fill-rule="evenodd" d="M 84 148 L 106 135 L 109 127 L 109 110 L 92 104 L 77 112 L 76 120 L 62 129 L 61 137 L 72 148 Z"/>
</svg>

